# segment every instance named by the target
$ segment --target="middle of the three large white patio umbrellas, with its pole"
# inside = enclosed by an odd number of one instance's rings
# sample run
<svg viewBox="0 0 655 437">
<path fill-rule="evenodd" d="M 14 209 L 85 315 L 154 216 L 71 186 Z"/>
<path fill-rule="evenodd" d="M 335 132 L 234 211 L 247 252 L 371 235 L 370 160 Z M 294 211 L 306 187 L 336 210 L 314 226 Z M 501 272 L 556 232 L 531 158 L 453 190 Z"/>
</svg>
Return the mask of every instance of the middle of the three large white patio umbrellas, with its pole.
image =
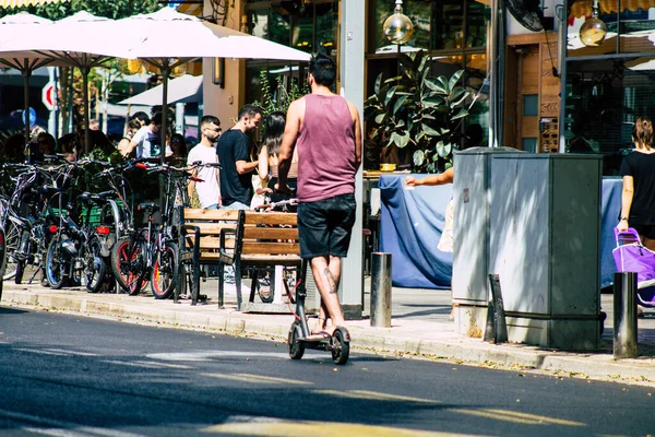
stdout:
<svg viewBox="0 0 655 437">
<path fill-rule="evenodd" d="M 135 34 L 139 35 L 139 34 Z M 11 39 L 0 39 L 0 58 L 40 58 L 78 68 L 83 78 L 84 144 L 88 151 L 88 72 L 110 58 L 126 57 L 139 36 L 116 33 L 116 21 L 78 12 L 55 22 L 47 32 L 21 29 Z"/>
</svg>

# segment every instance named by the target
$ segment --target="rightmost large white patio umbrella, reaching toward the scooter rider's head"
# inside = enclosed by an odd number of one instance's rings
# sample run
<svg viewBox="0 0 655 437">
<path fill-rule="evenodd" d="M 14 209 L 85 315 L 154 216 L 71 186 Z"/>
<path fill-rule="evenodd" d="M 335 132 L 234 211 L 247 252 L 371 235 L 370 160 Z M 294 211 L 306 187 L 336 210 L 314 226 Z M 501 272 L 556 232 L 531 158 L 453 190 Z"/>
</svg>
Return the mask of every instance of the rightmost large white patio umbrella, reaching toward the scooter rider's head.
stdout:
<svg viewBox="0 0 655 437">
<path fill-rule="evenodd" d="M 257 36 L 164 8 L 151 14 L 118 20 L 118 31 L 143 38 L 130 50 L 162 72 L 162 144 L 166 135 L 168 78 L 171 69 L 196 58 L 276 59 L 308 61 L 310 55 Z M 162 147 L 162 161 L 164 161 Z"/>
</svg>

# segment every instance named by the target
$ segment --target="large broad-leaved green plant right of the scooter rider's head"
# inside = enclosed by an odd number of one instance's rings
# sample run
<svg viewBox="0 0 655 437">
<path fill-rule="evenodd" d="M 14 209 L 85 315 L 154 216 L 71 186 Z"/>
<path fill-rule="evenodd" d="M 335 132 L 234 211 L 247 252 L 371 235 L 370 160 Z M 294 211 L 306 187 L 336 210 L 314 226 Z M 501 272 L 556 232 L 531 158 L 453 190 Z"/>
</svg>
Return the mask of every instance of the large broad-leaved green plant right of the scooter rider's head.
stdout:
<svg viewBox="0 0 655 437">
<path fill-rule="evenodd" d="M 384 81 L 380 74 L 365 102 L 365 118 L 377 126 L 371 139 L 405 150 L 417 173 L 443 172 L 452 166 L 457 128 L 468 116 L 464 103 L 471 93 L 457 85 L 463 70 L 432 78 L 424 50 L 401 54 L 400 62 L 403 73 Z"/>
</svg>

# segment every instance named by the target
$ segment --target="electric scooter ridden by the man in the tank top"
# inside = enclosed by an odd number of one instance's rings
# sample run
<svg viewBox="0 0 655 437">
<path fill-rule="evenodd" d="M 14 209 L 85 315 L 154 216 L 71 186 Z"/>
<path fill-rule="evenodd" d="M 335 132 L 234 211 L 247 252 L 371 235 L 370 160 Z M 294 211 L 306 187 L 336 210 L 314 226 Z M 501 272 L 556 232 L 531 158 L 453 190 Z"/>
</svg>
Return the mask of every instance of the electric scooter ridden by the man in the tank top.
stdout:
<svg viewBox="0 0 655 437">
<path fill-rule="evenodd" d="M 336 328 L 332 336 L 325 339 L 308 339 L 310 331 L 305 316 L 305 298 L 307 297 L 305 277 L 308 263 L 308 260 L 302 260 L 300 279 L 296 285 L 296 311 L 294 314 L 296 320 L 289 330 L 289 356 L 291 359 L 300 359 L 306 349 L 330 351 L 334 364 L 346 364 L 350 355 L 350 333 L 346 328 Z"/>
</svg>

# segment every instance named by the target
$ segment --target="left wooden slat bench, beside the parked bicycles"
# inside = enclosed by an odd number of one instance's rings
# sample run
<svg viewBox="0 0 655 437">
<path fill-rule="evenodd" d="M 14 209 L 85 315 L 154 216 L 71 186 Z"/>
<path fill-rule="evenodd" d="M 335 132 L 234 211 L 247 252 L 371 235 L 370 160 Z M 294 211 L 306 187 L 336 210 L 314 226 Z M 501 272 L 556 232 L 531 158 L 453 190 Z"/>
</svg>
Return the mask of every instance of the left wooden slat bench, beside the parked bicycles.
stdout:
<svg viewBox="0 0 655 437">
<path fill-rule="evenodd" d="M 179 294 L 186 291 L 188 269 L 191 269 L 191 305 L 198 303 L 200 294 L 200 264 L 219 264 L 218 249 L 234 249 L 234 238 L 225 238 L 222 243 L 221 233 L 224 229 L 234 231 L 239 220 L 237 210 L 183 210 L 179 233 L 180 270 L 178 286 L 175 291 L 175 302 Z M 223 306 L 223 274 L 221 275 L 218 305 Z"/>
</svg>

